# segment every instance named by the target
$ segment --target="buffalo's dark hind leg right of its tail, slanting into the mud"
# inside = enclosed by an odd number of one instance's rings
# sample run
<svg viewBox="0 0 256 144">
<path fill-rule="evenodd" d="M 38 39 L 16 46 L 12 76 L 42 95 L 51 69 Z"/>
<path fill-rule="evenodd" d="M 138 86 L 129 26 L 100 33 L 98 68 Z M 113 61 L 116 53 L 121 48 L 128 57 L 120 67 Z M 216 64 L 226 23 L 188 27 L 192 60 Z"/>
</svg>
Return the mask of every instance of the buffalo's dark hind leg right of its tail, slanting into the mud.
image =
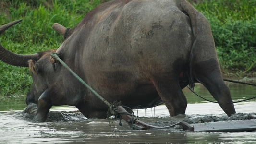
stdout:
<svg viewBox="0 0 256 144">
<path fill-rule="evenodd" d="M 194 72 L 195 78 L 207 88 L 223 111 L 228 116 L 235 114 L 230 90 L 222 79 L 219 63 L 214 59 L 200 62 L 195 65 Z"/>
</svg>

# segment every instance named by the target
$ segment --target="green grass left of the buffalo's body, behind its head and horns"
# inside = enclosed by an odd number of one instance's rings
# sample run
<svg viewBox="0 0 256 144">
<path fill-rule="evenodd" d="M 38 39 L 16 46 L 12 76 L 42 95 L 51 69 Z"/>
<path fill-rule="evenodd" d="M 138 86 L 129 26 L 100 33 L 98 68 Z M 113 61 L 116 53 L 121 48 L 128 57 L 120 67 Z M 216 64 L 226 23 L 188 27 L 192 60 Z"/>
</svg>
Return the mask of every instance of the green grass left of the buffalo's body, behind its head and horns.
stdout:
<svg viewBox="0 0 256 144">
<path fill-rule="evenodd" d="M 63 36 L 52 29 L 55 22 L 75 27 L 85 13 L 102 0 L 0 0 L 0 25 L 22 19 L 2 36 L 1 45 L 19 54 L 57 49 Z M 0 61 L 0 96 L 26 94 L 32 84 L 28 68 Z"/>
</svg>

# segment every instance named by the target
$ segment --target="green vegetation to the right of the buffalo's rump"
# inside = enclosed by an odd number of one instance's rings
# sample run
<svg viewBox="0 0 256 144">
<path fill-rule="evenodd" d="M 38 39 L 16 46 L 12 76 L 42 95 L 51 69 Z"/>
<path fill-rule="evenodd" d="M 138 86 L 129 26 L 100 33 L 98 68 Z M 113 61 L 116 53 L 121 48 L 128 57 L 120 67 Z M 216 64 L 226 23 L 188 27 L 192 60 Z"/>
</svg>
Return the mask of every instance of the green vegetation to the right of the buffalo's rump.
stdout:
<svg viewBox="0 0 256 144">
<path fill-rule="evenodd" d="M 194 6 L 211 25 L 222 70 L 255 70 L 256 0 L 203 0 Z"/>
</svg>

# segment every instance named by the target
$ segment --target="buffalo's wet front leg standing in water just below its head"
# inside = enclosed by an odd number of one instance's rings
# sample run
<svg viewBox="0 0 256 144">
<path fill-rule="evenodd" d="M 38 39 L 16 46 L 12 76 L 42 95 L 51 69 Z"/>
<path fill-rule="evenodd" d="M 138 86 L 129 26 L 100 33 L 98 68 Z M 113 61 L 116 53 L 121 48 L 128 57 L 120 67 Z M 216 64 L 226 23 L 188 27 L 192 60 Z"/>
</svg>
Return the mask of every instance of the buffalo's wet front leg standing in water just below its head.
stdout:
<svg viewBox="0 0 256 144">
<path fill-rule="evenodd" d="M 47 89 L 38 99 L 37 113 L 34 120 L 37 122 L 45 122 L 49 113 L 49 109 L 52 107 L 50 100 L 50 90 Z"/>
</svg>

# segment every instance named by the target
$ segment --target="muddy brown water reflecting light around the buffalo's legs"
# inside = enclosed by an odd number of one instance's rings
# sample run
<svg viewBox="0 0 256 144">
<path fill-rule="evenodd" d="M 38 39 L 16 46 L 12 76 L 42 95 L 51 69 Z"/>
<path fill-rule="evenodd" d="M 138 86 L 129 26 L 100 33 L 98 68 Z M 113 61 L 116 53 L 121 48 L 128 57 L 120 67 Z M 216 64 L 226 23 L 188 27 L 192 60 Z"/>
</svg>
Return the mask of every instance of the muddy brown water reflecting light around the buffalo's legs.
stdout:
<svg viewBox="0 0 256 144">
<path fill-rule="evenodd" d="M 250 81 L 256 83 L 255 80 Z M 234 101 L 256 96 L 256 87 L 229 84 Z M 227 117 L 218 104 L 206 102 L 188 89 L 186 116 L 169 117 L 164 105 L 134 110 L 140 120 L 157 126 L 168 126 L 179 121 L 201 123 L 223 120 L 256 119 L 256 99 L 236 103 L 237 114 Z M 196 92 L 214 100 L 202 85 Z M 186 132 L 182 129 L 133 130 L 123 120 L 109 123 L 105 119 L 86 119 L 75 107 L 61 106 L 50 110 L 47 122 L 33 122 L 33 115 L 22 111 L 24 96 L 5 96 L 0 101 L 0 144 L 254 144 L 254 132 Z"/>
</svg>

